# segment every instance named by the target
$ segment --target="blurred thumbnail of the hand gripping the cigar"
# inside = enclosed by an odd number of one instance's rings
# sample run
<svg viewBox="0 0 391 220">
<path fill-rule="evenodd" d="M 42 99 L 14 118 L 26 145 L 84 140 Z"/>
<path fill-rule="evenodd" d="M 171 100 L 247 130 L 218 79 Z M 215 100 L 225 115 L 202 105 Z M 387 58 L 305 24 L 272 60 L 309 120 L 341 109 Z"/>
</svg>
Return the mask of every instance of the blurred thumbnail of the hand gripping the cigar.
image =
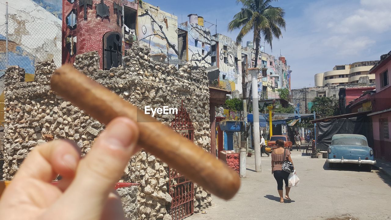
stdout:
<svg viewBox="0 0 391 220">
<path fill-rule="evenodd" d="M 104 138 L 111 148 L 133 149 L 135 147 L 135 132 L 127 120 L 129 119 L 115 119 L 106 128 Z"/>
</svg>

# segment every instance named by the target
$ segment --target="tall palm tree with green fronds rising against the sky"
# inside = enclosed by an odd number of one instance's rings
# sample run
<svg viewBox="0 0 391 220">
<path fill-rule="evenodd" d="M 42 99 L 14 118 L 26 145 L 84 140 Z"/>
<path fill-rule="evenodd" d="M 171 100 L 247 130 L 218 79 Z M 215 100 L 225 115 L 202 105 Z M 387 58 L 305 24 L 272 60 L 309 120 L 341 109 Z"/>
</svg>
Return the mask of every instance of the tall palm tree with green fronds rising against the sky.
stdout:
<svg viewBox="0 0 391 220">
<path fill-rule="evenodd" d="M 232 32 L 240 29 L 236 38 L 238 43 L 242 43 L 243 37 L 254 31 L 255 43 L 255 66 L 258 63 L 259 45 L 261 34 L 265 42 L 273 50 L 273 37 L 282 37 L 281 29 L 285 30 L 285 11 L 280 7 L 273 7 L 271 2 L 278 0 L 236 0 L 236 4 L 242 3 L 240 12 L 233 16 L 233 20 L 228 24 L 228 31 Z"/>
</svg>

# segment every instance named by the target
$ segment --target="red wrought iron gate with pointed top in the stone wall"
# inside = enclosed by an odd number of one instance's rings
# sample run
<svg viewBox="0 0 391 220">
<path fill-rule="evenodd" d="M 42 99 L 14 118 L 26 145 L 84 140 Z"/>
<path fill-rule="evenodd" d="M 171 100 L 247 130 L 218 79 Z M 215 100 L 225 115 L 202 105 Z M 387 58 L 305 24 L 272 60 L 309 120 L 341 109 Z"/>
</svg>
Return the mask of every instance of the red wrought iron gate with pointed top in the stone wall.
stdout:
<svg viewBox="0 0 391 220">
<path fill-rule="evenodd" d="M 171 128 L 191 141 L 194 139 L 193 124 L 183 107 L 183 102 L 174 121 L 171 122 Z M 170 208 L 172 220 L 181 220 L 193 215 L 194 183 L 171 168 L 169 168 L 169 194 L 172 197 Z"/>
</svg>

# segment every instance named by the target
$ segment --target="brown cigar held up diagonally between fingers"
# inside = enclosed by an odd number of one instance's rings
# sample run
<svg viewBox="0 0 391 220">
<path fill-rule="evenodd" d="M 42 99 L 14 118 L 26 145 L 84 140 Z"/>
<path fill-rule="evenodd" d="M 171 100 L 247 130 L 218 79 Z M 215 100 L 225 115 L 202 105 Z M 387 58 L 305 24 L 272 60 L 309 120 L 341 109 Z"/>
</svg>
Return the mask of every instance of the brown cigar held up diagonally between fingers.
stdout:
<svg viewBox="0 0 391 220">
<path fill-rule="evenodd" d="M 204 189 L 223 199 L 232 198 L 240 186 L 237 172 L 204 151 L 192 141 L 174 132 L 108 88 L 88 78 L 70 64 L 55 71 L 51 80 L 54 92 L 84 110 L 100 123 L 127 117 L 140 130 L 138 144 L 170 168 L 185 175 Z"/>
</svg>

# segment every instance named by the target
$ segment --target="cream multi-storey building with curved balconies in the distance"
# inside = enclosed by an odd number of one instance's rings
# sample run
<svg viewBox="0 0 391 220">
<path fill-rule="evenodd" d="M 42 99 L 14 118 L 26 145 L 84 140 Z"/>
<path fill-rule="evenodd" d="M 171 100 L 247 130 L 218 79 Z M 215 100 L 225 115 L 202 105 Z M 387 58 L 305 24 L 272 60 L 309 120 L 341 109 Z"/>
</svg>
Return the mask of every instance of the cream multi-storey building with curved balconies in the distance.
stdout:
<svg viewBox="0 0 391 220">
<path fill-rule="evenodd" d="M 337 65 L 331 71 L 315 74 L 315 86 L 344 85 L 359 83 L 360 77 L 368 76 L 369 83 L 375 83 L 375 74 L 369 70 L 378 61 L 355 62 L 350 65 Z"/>
</svg>

